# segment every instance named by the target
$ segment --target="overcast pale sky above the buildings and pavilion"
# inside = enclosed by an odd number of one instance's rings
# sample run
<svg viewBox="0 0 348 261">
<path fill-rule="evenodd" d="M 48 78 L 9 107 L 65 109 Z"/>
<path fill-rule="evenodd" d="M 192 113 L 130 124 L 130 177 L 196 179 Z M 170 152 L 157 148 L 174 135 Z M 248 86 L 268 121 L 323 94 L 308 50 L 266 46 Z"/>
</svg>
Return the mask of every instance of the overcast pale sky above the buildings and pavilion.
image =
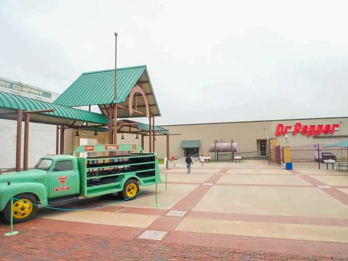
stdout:
<svg viewBox="0 0 348 261">
<path fill-rule="evenodd" d="M 146 64 L 156 124 L 348 116 L 347 1 L 0 0 L 0 77 Z"/>
</svg>

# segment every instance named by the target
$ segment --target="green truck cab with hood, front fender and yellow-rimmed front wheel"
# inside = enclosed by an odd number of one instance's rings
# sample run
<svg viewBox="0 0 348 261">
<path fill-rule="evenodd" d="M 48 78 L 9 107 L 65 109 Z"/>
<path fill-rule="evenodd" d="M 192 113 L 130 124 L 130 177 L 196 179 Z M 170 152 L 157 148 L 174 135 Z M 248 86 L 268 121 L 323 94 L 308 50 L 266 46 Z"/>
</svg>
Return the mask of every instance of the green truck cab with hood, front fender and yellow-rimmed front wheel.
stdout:
<svg viewBox="0 0 348 261">
<path fill-rule="evenodd" d="M 15 223 L 24 222 L 35 215 L 38 204 L 45 206 L 50 200 L 77 197 L 79 190 L 76 157 L 46 155 L 32 170 L 0 175 L 0 211 L 9 220 L 8 199 L 13 197 L 13 219 Z"/>
</svg>

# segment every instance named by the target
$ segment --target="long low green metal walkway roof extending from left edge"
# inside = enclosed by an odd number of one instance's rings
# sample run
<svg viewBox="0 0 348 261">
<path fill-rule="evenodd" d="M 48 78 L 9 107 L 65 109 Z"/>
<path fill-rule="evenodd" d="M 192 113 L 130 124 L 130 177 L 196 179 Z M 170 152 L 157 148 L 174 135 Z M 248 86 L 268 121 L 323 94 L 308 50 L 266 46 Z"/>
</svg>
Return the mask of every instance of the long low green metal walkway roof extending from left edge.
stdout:
<svg viewBox="0 0 348 261">
<path fill-rule="evenodd" d="M 31 121 L 70 125 L 71 123 L 90 122 L 96 124 L 107 124 L 108 118 L 103 114 L 98 114 L 86 110 L 71 108 L 67 106 L 58 105 L 55 103 L 37 100 L 33 98 L 23 97 L 20 95 L 0 91 L 0 110 L 44 110 L 55 109 L 54 112 L 44 112 L 40 114 L 32 114 Z M 3 118 L 8 118 L 3 115 Z M 78 124 L 77 124 L 78 125 Z"/>
</svg>

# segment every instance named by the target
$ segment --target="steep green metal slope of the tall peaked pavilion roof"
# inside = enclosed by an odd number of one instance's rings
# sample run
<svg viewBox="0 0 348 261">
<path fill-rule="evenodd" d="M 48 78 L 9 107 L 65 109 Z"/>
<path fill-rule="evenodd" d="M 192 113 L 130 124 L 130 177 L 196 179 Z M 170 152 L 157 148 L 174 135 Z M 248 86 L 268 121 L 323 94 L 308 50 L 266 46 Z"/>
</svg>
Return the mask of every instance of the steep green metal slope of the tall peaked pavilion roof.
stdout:
<svg viewBox="0 0 348 261">
<path fill-rule="evenodd" d="M 145 71 L 145 65 L 117 69 L 116 100 L 114 69 L 83 73 L 54 103 L 65 106 L 122 103 Z"/>
</svg>

